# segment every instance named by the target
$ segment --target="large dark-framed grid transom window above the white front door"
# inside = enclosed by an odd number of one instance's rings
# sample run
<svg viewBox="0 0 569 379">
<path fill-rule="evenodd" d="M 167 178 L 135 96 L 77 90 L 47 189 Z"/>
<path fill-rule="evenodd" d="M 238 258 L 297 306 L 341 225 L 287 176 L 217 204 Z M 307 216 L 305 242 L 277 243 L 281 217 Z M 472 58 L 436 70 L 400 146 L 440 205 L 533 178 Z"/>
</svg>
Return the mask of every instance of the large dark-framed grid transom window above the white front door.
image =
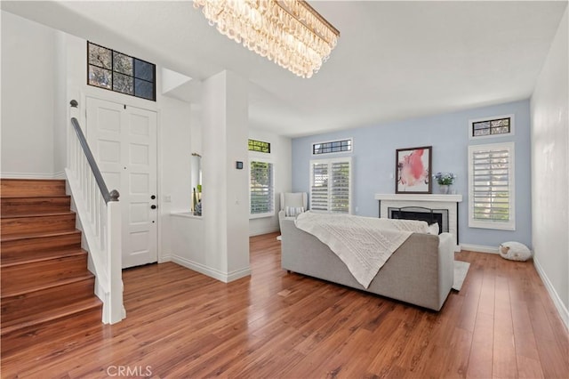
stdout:
<svg viewBox="0 0 569 379">
<path fill-rule="evenodd" d="M 156 101 L 156 65 L 87 42 L 87 84 Z"/>
</svg>

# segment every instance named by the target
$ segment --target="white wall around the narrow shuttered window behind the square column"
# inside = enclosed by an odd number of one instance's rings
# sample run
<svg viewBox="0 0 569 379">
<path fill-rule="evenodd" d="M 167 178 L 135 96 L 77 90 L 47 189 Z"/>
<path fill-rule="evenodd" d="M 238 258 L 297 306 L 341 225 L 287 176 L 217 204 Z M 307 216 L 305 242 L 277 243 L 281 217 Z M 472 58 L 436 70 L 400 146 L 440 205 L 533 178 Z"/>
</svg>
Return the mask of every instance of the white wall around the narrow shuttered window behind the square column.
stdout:
<svg viewBox="0 0 569 379">
<path fill-rule="evenodd" d="M 280 209 L 280 194 L 281 192 L 291 192 L 293 187 L 291 169 L 292 145 L 290 138 L 259 129 L 250 128 L 249 138 L 270 142 L 270 154 L 259 153 L 259 157 L 270 159 L 275 167 L 275 215 L 249 220 L 249 235 L 257 236 L 279 230 L 278 210 Z"/>
</svg>

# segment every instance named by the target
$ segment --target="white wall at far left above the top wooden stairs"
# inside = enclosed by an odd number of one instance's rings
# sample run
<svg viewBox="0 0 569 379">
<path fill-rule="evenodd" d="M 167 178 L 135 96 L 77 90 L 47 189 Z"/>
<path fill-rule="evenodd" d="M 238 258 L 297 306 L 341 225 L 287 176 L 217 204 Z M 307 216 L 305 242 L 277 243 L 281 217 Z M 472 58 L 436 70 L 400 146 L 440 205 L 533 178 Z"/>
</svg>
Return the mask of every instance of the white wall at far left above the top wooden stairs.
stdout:
<svg viewBox="0 0 569 379">
<path fill-rule="evenodd" d="M 2 12 L 3 177 L 51 178 L 55 173 L 57 34 Z"/>
</svg>

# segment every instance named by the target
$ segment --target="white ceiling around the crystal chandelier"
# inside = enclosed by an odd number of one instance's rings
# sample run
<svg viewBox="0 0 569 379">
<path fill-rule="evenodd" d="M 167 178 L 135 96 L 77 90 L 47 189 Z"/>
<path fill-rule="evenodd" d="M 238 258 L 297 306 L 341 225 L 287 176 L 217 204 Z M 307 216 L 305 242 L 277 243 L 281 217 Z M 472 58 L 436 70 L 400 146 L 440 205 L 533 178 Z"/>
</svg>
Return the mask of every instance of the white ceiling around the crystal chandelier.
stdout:
<svg viewBox="0 0 569 379">
<path fill-rule="evenodd" d="M 566 1 L 311 1 L 341 31 L 310 79 L 209 27 L 191 1 L 10 2 L 2 9 L 194 80 L 251 83 L 252 127 L 287 136 L 527 99 Z"/>
</svg>

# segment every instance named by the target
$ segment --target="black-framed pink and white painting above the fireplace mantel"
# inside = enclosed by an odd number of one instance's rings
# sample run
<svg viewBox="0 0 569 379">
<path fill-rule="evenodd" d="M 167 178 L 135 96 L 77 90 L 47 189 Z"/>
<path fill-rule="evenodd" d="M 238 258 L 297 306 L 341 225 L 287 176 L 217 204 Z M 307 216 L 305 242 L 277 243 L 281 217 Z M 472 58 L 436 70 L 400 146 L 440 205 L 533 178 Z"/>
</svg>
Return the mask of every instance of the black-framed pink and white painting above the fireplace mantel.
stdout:
<svg viewBox="0 0 569 379">
<path fill-rule="evenodd" d="M 397 149 L 395 193 L 431 193 L 431 146 Z"/>
</svg>

